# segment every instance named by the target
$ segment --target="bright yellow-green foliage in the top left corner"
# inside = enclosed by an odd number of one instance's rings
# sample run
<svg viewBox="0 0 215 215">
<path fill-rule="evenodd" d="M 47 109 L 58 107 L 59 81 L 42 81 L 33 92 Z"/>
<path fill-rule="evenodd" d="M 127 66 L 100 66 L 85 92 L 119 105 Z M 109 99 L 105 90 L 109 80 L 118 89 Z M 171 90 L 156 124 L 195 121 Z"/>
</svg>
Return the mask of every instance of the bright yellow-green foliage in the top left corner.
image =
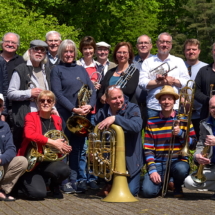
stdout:
<svg viewBox="0 0 215 215">
<path fill-rule="evenodd" d="M 1 36 L 6 32 L 15 32 L 21 36 L 21 46 L 18 51 L 20 54 L 29 48 L 31 40 L 45 40 L 45 34 L 51 30 L 61 32 L 63 38 L 78 41 L 78 32 L 74 27 L 59 25 L 53 15 L 43 15 L 28 10 L 21 1 L 1 0 L 0 19 Z"/>
</svg>

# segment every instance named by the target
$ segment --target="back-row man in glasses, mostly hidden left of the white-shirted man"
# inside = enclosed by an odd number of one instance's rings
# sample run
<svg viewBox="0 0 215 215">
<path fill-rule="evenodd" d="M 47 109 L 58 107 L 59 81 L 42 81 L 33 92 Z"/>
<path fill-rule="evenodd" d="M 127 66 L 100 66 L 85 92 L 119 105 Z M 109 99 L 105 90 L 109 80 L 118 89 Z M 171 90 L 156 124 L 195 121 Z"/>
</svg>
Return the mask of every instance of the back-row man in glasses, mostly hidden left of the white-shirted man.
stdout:
<svg viewBox="0 0 215 215">
<path fill-rule="evenodd" d="M 138 50 L 138 55 L 134 58 L 134 65 L 137 69 L 141 69 L 142 63 L 145 59 L 153 56 L 150 51 L 152 49 L 152 40 L 148 35 L 141 35 L 137 38 L 136 48 Z M 147 90 L 141 89 L 137 86 L 136 89 L 136 99 L 141 110 L 141 115 L 143 119 L 143 128 L 146 126 L 147 122 L 147 108 L 146 108 L 146 97 Z"/>
</svg>

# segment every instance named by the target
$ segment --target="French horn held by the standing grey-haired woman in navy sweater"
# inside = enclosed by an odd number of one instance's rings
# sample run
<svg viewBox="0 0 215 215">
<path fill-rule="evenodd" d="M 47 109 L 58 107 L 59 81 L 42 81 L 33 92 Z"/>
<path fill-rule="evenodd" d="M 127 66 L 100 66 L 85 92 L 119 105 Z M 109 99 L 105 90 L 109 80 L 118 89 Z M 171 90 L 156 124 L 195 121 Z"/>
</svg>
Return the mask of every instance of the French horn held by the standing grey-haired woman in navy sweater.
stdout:
<svg viewBox="0 0 215 215">
<path fill-rule="evenodd" d="M 79 77 L 77 77 L 77 80 L 81 81 Z M 78 107 L 88 104 L 91 95 L 92 90 L 89 89 L 87 84 L 83 83 L 78 92 Z M 77 114 L 73 114 L 69 117 L 66 122 L 66 126 L 72 133 L 82 137 L 86 137 L 94 128 L 85 116 L 79 116 Z"/>
</svg>

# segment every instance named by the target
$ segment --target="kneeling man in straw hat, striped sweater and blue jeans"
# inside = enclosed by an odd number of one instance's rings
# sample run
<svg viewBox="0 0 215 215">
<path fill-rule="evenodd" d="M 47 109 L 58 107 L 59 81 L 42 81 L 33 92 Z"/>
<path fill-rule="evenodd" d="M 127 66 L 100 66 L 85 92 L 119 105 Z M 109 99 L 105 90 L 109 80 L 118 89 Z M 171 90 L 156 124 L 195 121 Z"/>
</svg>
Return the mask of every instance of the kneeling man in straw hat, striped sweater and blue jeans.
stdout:
<svg viewBox="0 0 215 215">
<path fill-rule="evenodd" d="M 173 87 L 164 86 L 155 95 L 155 98 L 161 106 L 161 111 L 158 116 L 148 120 L 145 130 L 144 152 L 148 172 L 144 176 L 142 194 L 145 198 L 152 198 L 156 197 L 161 191 L 167 168 L 166 161 L 171 147 L 171 138 L 174 135 L 172 159 L 170 160 L 170 177 L 174 179 L 174 197 L 180 198 L 183 197 L 181 185 L 188 176 L 190 169 L 188 157 L 178 154 L 185 143 L 187 122 L 177 120 L 176 111 L 173 107 L 179 95 Z M 175 123 L 176 126 L 173 127 Z M 189 144 L 195 145 L 196 138 L 192 124 L 189 137 Z"/>
</svg>

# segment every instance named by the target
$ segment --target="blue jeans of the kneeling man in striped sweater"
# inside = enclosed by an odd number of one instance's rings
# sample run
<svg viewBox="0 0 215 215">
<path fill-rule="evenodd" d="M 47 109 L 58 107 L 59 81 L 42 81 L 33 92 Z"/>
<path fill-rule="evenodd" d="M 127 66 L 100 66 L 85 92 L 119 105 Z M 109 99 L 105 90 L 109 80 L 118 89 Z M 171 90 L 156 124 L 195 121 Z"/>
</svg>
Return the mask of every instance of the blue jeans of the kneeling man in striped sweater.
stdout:
<svg viewBox="0 0 215 215">
<path fill-rule="evenodd" d="M 166 165 L 164 164 L 156 164 L 157 172 L 161 176 L 161 180 L 163 181 Z M 174 161 L 171 164 L 170 168 L 170 176 L 174 179 L 175 189 L 180 189 L 181 185 L 184 182 L 184 179 L 189 175 L 190 166 L 187 162 L 184 161 Z M 162 182 L 159 184 L 155 184 L 151 181 L 150 175 L 148 173 L 145 174 L 144 180 L 142 183 L 141 194 L 145 198 L 153 198 L 156 197 L 160 190 L 162 189 Z"/>
</svg>

